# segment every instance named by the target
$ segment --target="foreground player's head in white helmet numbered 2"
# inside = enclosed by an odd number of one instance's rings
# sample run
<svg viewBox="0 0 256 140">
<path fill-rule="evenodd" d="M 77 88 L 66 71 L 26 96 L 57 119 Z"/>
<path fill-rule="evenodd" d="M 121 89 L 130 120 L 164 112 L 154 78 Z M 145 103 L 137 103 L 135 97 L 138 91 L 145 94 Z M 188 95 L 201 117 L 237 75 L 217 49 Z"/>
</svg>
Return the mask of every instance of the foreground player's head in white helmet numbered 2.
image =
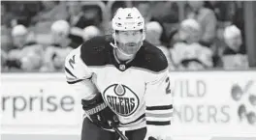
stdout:
<svg viewBox="0 0 256 140">
<path fill-rule="evenodd" d="M 126 56 L 132 56 L 140 49 L 144 42 L 144 17 L 137 8 L 119 8 L 112 18 L 112 30 L 113 47 L 116 47 Z M 134 35 L 133 32 L 136 32 L 140 33 L 140 36 L 139 38 L 138 36 L 133 36 L 133 42 L 122 42 L 122 37 L 117 37 L 120 32 L 132 32 L 132 35 Z M 135 45 L 134 49 L 131 49 L 132 46 L 130 44 Z"/>
</svg>

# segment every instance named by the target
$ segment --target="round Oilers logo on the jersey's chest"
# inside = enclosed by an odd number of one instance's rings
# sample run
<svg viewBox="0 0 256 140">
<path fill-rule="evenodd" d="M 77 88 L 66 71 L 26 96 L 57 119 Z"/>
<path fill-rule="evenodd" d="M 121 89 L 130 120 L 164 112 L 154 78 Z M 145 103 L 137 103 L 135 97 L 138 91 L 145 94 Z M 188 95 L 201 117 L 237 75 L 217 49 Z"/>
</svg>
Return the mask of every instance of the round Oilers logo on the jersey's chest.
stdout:
<svg viewBox="0 0 256 140">
<path fill-rule="evenodd" d="M 138 96 L 130 88 L 120 84 L 109 86 L 104 91 L 103 97 L 112 111 L 123 117 L 132 115 L 140 104 Z"/>
</svg>

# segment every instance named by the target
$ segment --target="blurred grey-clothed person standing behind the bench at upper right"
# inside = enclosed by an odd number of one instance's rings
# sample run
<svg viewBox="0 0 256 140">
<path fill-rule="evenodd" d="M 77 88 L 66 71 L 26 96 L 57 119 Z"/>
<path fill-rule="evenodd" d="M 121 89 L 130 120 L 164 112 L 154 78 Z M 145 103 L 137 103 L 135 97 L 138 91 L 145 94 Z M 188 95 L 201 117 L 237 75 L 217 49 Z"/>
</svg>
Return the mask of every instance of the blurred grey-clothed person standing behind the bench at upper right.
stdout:
<svg viewBox="0 0 256 140">
<path fill-rule="evenodd" d="M 204 8 L 204 1 L 188 1 L 188 4 L 192 11 L 187 17 L 196 19 L 202 27 L 200 42 L 205 46 L 210 46 L 216 36 L 216 15 L 212 10 Z"/>
</svg>

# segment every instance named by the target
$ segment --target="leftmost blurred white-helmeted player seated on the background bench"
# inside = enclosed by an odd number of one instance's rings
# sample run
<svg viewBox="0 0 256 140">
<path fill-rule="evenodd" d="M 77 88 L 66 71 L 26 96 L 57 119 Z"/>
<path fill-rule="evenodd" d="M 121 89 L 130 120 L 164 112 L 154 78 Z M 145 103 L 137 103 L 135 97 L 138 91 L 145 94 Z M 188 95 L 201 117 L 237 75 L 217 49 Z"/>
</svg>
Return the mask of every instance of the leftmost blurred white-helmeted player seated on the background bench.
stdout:
<svg viewBox="0 0 256 140">
<path fill-rule="evenodd" d="M 38 70 L 42 65 L 43 46 L 34 42 L 34 35 L 23 25 L 16 25 L 12 30 L 15 49 L 8 53 L 6 66 L 9 70 Z"/>
</svg>

